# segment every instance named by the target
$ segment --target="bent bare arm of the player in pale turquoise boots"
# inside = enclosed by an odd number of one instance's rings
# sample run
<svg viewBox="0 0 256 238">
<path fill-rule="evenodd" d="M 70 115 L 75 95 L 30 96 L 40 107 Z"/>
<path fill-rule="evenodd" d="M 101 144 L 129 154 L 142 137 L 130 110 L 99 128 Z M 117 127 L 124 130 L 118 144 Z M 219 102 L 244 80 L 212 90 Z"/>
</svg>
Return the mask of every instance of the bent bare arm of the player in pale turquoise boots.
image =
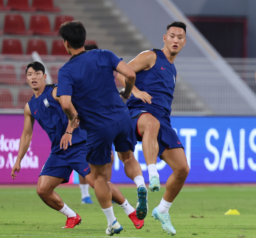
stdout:
<svg viewBox="0 0 256 238">
<path fill-rule="evenodd" d="M 150 50 L 144 51 L 136 56 L 132 61 L 130 61 L 128 66 L 130 66 L 135 73 L 138 73 L 142 70 L 149 70 L 154 66 L 156 58 L 157 56 L 155 52 Z M 123 86 L 125 86 L 125 78 L 123 75 L 117 74 L 117 79 Z M 134 97 L 143 100 L 144 103 L 151 104 L 152 97 L 147 92 L 140 91 L 136 86 L 133 87 L 132 94 Z"/>
</svg>

